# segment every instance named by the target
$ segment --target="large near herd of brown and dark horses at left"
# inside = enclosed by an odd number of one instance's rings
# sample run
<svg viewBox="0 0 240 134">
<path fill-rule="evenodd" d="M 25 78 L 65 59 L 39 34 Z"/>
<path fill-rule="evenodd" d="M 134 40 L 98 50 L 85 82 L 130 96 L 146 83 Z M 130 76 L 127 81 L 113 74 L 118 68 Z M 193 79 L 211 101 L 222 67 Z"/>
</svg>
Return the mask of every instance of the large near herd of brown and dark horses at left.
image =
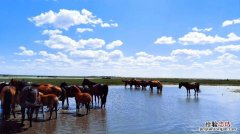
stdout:
<svg viewBox="0 0 240 134">
<path fill-rule="evenodd" d="M 55 110 L 55 118 L 57 118 L 57 110 L 59 100 L 62 101 L 62 108 L 64 107 L 64 101 L 67 100 L 67 107 L 69 106 L 68 98 L 75 97 L 76 112 L 79 113 L 80 104 L 86 107 L 87 112 L 90 111 L 90 105 L 93 106 L 93 97 L 98 98 L 101 101 L 101 108 L 105 107 L 108 95 L 108 85 L 97 84 L 88 79 L 84 79 L 82 86 L 68 85 L 66 82 L 61 83 L 60 86 L 52 84 L 32 84 L 26 81 L 11 79 L 9 83 L 0 83 L 0 99 L 2 108 L 2 119 L 10 118 L 12 112 L 15 116 L 15 106 L 19 104 L 21 106 L 21 126 L 24 124 L 25 114 L 27 109 L 27 115 L 29 125 L 32 127 L 32 117 L 35 111 L 36 119 L 38 118 L 38 112 L 43 106 L 47 106 L 50 111 L 49 120 L 52 117 L 52 112 Z M 44 117 L 44 112 L 43 112 Z"/>
</svg>

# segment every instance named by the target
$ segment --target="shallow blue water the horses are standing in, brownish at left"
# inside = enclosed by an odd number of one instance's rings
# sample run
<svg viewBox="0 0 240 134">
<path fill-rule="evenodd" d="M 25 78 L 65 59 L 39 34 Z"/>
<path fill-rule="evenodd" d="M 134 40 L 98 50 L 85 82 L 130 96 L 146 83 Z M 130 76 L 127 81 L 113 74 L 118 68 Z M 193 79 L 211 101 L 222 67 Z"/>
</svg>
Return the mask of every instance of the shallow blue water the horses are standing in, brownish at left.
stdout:
<svg viewBox="0 0 240 134">
<path fill-rule="evenodd" d="M 240 94 L 227 87 L 201 86 L 201 93 L 187 97 L 185 89 L 164 86 L 146 91 L 110 86 L 106 109 L 91 109 L 89 115 L 75 114 L 75 101 L 70 99 L 70 110 L 59 110 L 58 119 L 28 122 L 22 133 L 200 133 L 207 121 L 230 121 L 240 130 Z M 61 105 L 61 104 L 60 104 Z M 85 113 L 85 110 L 81 110 Z M 53 118 L 55 114 L 53 114 Z M 20 121 L 20 114 L 17 119 Z M 238 133 L 238 130 L 231 133 Z M 212 132 L 219 133 L 219 132 Z M 229 132 L 225 132 L 229 133 Z"/>
</svg>

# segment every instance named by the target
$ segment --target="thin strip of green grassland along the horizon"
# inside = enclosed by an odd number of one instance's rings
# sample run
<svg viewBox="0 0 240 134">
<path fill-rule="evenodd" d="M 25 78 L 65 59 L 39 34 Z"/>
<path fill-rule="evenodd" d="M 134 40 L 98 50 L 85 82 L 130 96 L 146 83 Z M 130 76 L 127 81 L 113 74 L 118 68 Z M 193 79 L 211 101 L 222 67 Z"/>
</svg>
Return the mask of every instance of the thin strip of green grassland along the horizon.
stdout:
<svg viewBox="0 0 240 134">
<path fill-rule="evenodd" d="M 131 79 L 130 77 L 101 77 L 101 76 L 31 76 L 31 75 L 0 75 L 0 81 L 10 81 L 11 79 L 25 80 L 33 83 L 52 83 L 60 85 L 61 82 L 67 82 L 68 84 L 82 83 L 83 78 L 91 79 L 96 83 L 103 83 L 108 85 L 123 85 L 123 79 Z M 163 84 L 178 84 L 182 81 L 188 82 L 199 82 L 201 85 L 229 85 L 229 86 L 240 86 L 240 80 L 233 79 L 185 79 L 185 78 L 136 78 L 143 80 L 159 80 Z"/>
</svg>

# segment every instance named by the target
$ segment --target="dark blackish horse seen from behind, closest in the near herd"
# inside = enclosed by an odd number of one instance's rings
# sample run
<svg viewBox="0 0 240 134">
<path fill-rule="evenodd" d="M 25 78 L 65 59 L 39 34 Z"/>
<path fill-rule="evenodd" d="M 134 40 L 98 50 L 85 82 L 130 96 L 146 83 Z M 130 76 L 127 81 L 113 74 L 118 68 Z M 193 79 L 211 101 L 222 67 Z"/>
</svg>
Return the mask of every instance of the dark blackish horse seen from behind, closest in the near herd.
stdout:
<svg viewBox="0 0 240 134">
<path fill-rule="evenodd" d="M 39 104 L 39 92 L 34 86 L 25 86 L 19 93 L 19 104 L 21 106 L 21 126 L 24 124 L 25 120 L 25 109 L 28 110 L 28 119 L 30 122 L 30 127 L 32 127 L 32 116 L 35 109 L 41 107 Z"/>
</svg>

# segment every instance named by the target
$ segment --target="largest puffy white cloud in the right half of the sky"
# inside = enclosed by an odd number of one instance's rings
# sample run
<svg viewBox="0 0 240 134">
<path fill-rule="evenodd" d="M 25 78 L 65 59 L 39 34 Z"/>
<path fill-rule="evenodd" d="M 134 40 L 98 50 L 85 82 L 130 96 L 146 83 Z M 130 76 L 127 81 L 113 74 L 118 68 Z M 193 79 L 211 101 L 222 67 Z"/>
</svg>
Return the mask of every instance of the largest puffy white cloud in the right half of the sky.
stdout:
<svg viewBox="0 0 240 134">
<path fill-rule="evenodd" d="M 201 32 L 189 32 L 183 37 L 179 38 L 180 43 L 184 45 L 189 44 L 213 44 L 240 41 L 240 37 L 235 33 L 229 33 L 227 38 L 218 35 L 211 36 Z"/>
</svg>

